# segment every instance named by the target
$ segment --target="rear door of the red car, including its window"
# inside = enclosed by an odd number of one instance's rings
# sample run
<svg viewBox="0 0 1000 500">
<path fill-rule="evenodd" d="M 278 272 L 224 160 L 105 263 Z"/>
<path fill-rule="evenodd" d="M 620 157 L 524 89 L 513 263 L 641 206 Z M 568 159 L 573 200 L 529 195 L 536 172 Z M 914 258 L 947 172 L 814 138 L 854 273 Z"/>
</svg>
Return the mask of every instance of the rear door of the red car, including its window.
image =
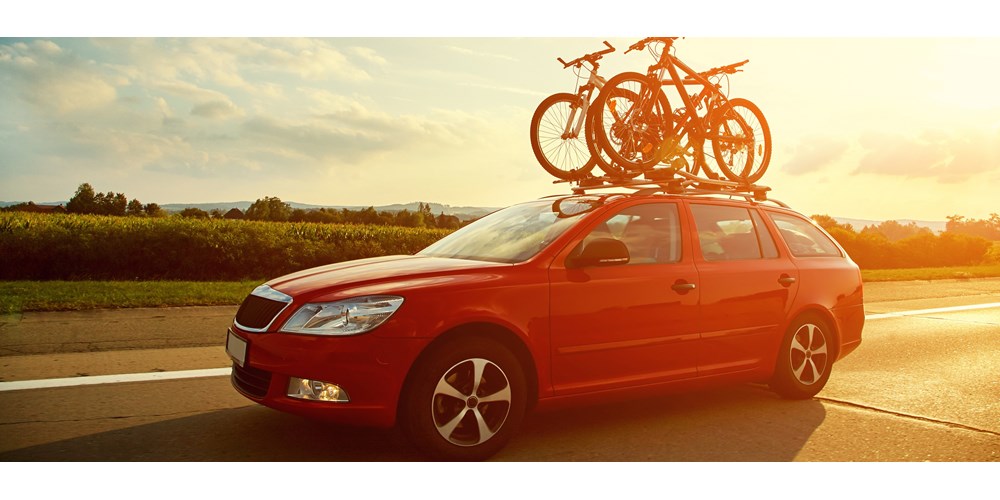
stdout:
<svg viewBox="0 0 1000 500">
<path fill-rule="evenodd" d="M 755 207 L 691 202 L 701 289 L 699 376 L 767 370 L 783 335 L 798 271 Z"/>
</svg>

